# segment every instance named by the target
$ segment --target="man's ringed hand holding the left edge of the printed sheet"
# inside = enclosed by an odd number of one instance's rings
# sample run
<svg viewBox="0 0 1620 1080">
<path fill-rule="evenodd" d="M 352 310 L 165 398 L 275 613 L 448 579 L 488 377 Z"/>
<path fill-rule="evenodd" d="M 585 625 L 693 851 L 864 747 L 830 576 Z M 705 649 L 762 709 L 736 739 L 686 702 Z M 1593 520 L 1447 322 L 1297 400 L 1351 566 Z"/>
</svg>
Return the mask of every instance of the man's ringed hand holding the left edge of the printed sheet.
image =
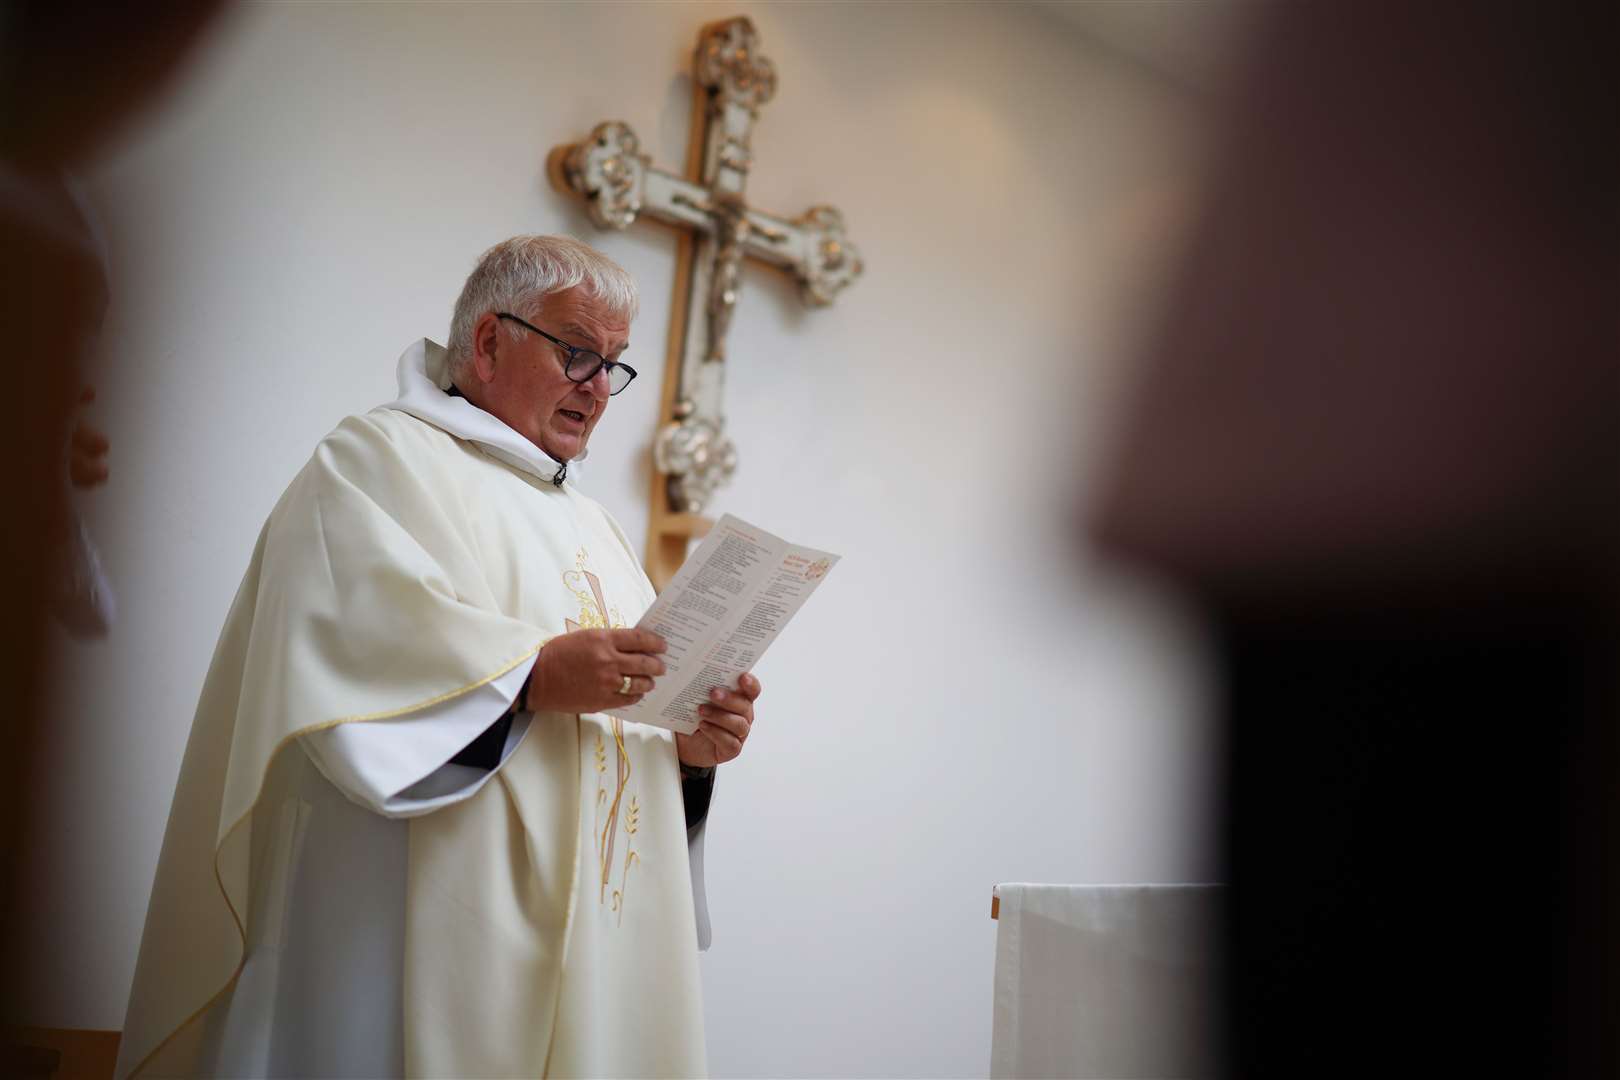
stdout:
<svg viewBox="0 0 1620 1080">
<path fill-rule="evenodd" d="M 528 678 L 536 712 L 606 712 L 633 704 L 664 674 L 664 640 L 650 630 L 575 630 L 539 651 Z M 619 693 L 624 677 L 630 691 Z"/>
</svg>

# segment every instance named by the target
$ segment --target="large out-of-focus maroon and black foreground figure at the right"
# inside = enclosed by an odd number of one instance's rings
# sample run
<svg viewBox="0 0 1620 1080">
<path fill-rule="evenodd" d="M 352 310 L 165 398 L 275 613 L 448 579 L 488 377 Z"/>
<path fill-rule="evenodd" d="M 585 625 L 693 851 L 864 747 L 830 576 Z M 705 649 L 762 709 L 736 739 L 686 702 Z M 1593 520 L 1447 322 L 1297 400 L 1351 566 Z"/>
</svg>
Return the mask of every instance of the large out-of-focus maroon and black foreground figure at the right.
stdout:
<svg viewBox="0 0 1620 1080">
<path fill-rule="evenodd" d="M 1228 1075 L 1620 1075 L 1617 10 L 1260 26 L 1094 520 L 1220 649 Z"/>
</svg>

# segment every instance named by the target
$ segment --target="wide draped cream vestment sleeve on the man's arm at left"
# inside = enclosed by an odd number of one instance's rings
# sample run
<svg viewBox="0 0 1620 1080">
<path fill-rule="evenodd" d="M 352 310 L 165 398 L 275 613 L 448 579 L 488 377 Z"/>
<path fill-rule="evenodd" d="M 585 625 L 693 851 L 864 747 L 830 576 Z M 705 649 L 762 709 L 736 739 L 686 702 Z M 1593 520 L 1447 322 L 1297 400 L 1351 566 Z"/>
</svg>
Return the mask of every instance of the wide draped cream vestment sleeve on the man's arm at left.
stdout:
<svg viewBox="0 0 1620 1080">
<path fill-rule="evenodd" d="M 546 636 L 489 593 L 463 494 L 434 471 L 457 450 L 413 424 L 350 418 L 288 489 L 266 536 L 274 594 L 261 588 L 256 615 L 274 643 L 253 654 L 282 669 L 303 751 L 390 818 L 488 782 L 492 769 L 450 759 L 510 709 Z M 501 763 L 528 724 L 514 719 Z"/>
</svg>

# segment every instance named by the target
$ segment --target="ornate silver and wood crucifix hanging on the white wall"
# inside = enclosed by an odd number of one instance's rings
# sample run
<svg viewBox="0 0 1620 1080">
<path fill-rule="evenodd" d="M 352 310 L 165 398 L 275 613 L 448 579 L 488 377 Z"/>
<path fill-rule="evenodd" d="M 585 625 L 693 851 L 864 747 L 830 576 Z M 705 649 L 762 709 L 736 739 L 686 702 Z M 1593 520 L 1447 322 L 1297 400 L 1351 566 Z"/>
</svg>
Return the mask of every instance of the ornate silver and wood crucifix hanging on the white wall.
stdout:
<svg viewBox="0 0 1620 1080">
<path fill-rule="evenodd" d="M 737 468 L 723 392 L 744 257 L 791 272 L 812 306 L 833 303 L 862 270 L 834 207 L 784 219 L 744 199 L 753 121 L 774 92 L 776 68 L 758 53 L 753 23 L 713 23 L 698 32 L 685 175 L 654 168 L 619 121 L 596 125 L 588 139 L 557 146 L 546 160 L 552 185 L 583 196 L 596 225 L 627 228 L 646 215 L 679 230 L 646 538 L 646 573 L 659 589 L 687 544 L 708 533 L 703 510 Z"/>
</svg>

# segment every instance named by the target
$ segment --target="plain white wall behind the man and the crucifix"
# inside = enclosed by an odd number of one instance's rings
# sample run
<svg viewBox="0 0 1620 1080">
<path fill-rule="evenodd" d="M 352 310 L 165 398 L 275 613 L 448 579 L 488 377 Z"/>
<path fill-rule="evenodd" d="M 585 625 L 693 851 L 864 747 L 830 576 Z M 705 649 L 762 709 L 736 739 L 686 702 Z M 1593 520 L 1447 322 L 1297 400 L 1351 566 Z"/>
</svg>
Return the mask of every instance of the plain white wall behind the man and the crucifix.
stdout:
<svg viewBox="0 0 1620 1080">
<path fill-rule="evenodd" d="M 714 1072 L 983 1074 L 991 884 L 1212 874 L 1191 636 L 1087 570 L 1072 525 L 1121 313 L 1187 189 L 1186 99 L 1011 5 L 253 5 L 92 176 L 113 457 L 84 505 L 123 612 L 62 656 L 31 1020 L 122 1027 L 259 525 L 502 236 L 585 236 L 643 285 L 651 381 L 586 471 L 643 536 L 672 235 L 598 233 L 541 168 L 604 118 L 679 167 L 695 32 L 735 13 L 781 74 L 750 198 L 838 204 L 867 275 L 807 313 L 750 270 L 732 330 L 719 508 L 844 562 L 761 664 L 719 787 Z"/>
</svg>

